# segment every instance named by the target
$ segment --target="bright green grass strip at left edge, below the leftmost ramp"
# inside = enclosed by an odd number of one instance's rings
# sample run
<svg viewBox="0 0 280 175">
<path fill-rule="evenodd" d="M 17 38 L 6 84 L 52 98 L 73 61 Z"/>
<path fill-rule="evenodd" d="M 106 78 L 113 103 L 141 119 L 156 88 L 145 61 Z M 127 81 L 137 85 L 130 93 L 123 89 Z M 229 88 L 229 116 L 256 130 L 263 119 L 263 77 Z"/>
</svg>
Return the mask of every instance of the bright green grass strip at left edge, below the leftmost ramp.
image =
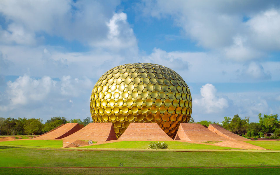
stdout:
<svg viewBox="0 0 280 175">
<path fill-rule="evenodd" d="M 1 145 L 61 148 L 62 140 L 13 140 L 13 141 L 1 141 L 0 146 Z"/>
</svg>

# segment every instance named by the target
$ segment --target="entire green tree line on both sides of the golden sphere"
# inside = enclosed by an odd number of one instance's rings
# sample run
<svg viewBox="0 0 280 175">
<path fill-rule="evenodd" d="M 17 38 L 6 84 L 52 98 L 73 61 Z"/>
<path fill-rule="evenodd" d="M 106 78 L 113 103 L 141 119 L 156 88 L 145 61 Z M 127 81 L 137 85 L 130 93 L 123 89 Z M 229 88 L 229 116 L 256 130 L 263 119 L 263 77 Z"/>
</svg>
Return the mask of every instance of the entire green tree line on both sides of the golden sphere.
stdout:
<svg viewBox="0 0 280 175">
<path fill-rule="evenodd" d="M 238 134 L 240 136 L 246 137 L 263 137 L 264 133 L 274 133 L 275 135 L 280 135 L 280 121 L 278 120 L 278 115 L 270 114 L 263 115 L 258 114 L 259 122 L 249 122 L 249 117 L 242 119 L 239 115 L 234 115 L 231 119 L 225 117 L 222 122 L 211 122 L 208 120 L 202 120 L 195 122 L 193 118 L 190 119 L 189 123 L 199 123 L 206 127 L 209 124 L 215 123 L 223 128 Z M 87 117 L 81 121 L 81 119 L 71 119 L 66 120 L 65 117 L 52 117 L 45 123 L 42 123 L 42 119 L 35 118 L 2 118 L 0 117 L 0 130 L 1 135 L 39 135 L 46 133 L 61 124 L 65 123 L 79 123 L 84 126 L 88 125 L 92 120 Z"/>
</svg>

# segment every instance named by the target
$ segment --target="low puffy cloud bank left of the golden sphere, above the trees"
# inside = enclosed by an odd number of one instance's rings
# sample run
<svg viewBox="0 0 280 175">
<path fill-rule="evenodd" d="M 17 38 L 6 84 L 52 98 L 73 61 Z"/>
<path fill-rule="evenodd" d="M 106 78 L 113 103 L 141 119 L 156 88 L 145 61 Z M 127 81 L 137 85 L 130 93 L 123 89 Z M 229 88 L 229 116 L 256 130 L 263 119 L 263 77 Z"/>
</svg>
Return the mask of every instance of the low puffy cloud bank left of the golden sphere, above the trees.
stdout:
<svg viewBox="0 0 280 175">
<path fill-rule="evenodd" d="M 60 81 L 55 81 L 49 76 L 39 79 L 28 75 L 20 76 L 13 82 L 7 82 L 6 90 L 3 92 L 5 99 L 0 103 L 0 111 L 34 103 L 45 104 L 45 100 L 56 103 L 68 97 L 78 97 L 88 91 L 91 92 L 92 87 L 93 83 L 87 77 L 79 79 L 63 76 Z M 69 102 L 73 103 L 72 100 Z"/>
</svg>

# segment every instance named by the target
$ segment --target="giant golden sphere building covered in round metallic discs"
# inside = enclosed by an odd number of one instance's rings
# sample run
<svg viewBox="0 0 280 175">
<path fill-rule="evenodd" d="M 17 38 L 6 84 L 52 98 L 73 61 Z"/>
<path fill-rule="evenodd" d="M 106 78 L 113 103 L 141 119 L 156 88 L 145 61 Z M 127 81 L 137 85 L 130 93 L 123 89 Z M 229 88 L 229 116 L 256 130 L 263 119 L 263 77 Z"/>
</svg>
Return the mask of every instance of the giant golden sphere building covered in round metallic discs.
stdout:
<svg viewBox="0 0 280 175">
<path fill-rule="evenodd" d="M 156 122 L 171 138 L 192 113 L 190 89 L 172 69 L 150 63 L 108 70 L 90 98 L 93 122 L 112 122 L 117 138 L 131 122 Z"/>
</svg>

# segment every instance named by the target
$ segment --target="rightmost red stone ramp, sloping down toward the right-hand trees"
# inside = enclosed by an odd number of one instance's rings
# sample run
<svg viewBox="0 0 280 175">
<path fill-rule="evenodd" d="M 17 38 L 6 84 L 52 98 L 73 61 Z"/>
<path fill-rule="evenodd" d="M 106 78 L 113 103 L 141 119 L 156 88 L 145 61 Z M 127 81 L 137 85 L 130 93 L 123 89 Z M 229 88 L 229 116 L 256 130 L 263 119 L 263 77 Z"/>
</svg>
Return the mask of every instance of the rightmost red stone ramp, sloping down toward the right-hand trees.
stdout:
<svg viewBox="0 0 280 175">
<path fill-rule="evenodd" d="M 227 139 L 230 139 L 230 140 L 251 141 L 250 139 L 246 139 L 237 134 L 234 134 L 217 124 L 210 124 L 208 129 L 210 131 L 215 132 L 216 134 L 218 134 L 222 137 L 225 137 Z"/>
</svg>

